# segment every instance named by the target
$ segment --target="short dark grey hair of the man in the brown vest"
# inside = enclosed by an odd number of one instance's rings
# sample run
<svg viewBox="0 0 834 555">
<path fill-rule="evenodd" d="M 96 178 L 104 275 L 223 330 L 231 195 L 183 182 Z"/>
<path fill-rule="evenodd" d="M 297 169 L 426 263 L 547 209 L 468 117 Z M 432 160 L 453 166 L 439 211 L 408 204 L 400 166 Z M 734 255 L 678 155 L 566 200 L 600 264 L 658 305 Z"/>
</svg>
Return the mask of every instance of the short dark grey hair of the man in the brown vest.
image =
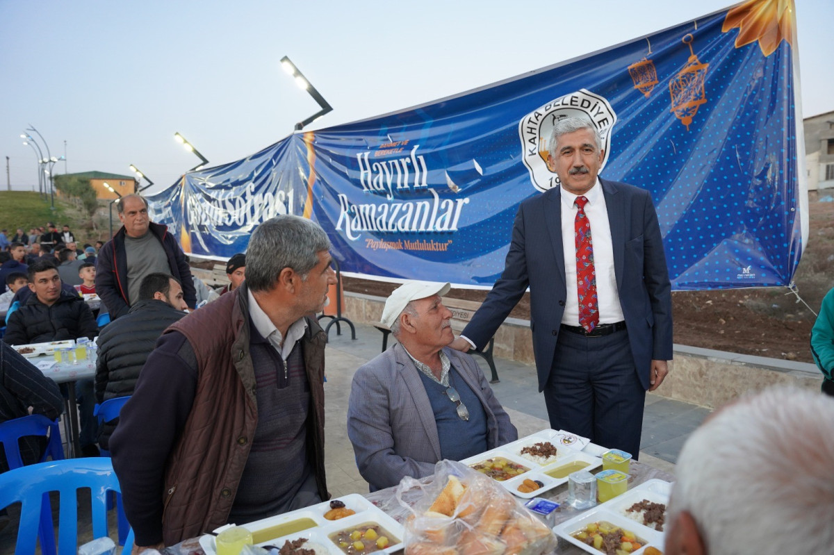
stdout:
<svg viewBox="0 0 834 555">
<path fill-rule="evenodd" d="M 284 268 L 303 280 L 319 263 L 319 253 L 331 248 L 327 233 L 307 218 L 277 216 L 260 224 L 246 250 L 246 283 L 252 291 L 269 291 Z"/>
</svg>

